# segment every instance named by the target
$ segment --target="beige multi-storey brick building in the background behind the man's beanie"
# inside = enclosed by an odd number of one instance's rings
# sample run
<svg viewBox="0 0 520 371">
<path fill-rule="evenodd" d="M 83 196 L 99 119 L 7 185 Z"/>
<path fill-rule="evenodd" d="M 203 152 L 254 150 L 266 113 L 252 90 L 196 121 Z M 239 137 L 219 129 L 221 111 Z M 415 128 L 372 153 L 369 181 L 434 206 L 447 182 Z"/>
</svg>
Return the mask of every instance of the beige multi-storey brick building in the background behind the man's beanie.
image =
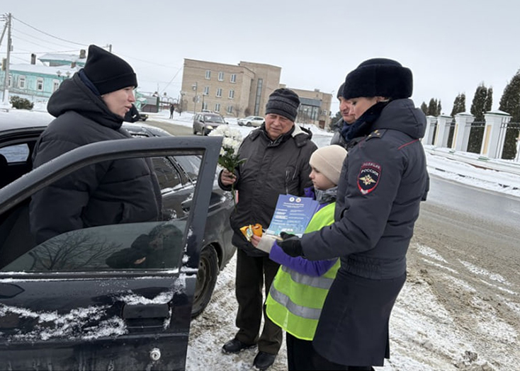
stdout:
<svg viewBox="0 0 520 371">
<path fill-rule="evenodd" d="M 211 110 L 222 115 L 243 117 L 265 115 L 269 95 L 280 84 L 281 67 L 240 62 L 237 65 L 184 59 L 181 110 Z M 293 89 L 293 88 L 289 88 Z M 332 94 L 319 89 L 293 89 L 300 96 L 298 122 L 327 127 Z"/>
</svg>

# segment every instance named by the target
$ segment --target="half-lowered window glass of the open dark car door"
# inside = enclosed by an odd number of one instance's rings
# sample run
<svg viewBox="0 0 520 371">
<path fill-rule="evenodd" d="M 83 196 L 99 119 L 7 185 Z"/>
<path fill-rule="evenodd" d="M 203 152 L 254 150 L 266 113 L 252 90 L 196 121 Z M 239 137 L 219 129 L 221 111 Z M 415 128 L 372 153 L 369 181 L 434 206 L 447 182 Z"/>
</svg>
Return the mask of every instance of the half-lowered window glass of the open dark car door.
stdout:
<svg viewBox="0 0 520 371">
<path fill-rule="evenodd" d="M 88 272 L 179 268 L 186 220 L 78 229 L 48 239 L 2 271 Z"/>
</svg>

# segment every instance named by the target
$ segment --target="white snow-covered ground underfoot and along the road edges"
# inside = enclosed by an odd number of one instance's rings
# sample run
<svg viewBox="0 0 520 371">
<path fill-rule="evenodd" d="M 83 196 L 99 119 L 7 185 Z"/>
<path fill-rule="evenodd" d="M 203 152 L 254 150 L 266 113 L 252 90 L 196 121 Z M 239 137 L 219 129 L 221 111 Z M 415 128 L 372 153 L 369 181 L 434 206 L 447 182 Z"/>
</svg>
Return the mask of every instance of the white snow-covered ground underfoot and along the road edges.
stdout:
<svg viewBox="0 0 520 371">
<path fill-rule="evenodd" d="M 9 114 L 13 119 L 22 115 L 30 116 L 46 113 L 16 112 Z M 175 113 L 174 119 L 168 119 L 169 113 L 162 111 L 150 114 L 150 118 L 162 122 L 191 127 L 192 113 Z M 236 125 L 236 119 L 227 118 L 230 125 Z M 243 135 L 249 127 L 236 126 Z M 310 125 L 307 125 L 310 127 Z M 312 132 L 319 146 L 329 143 L 331 133 L 312 127 Z M 504 193 L 504 197 L 520 197 L 520 190 L 514 187 L 500 186 L 500 178 L 514 179 L 520 183 L 520 176 L 480 169 L 443 156 L 426 155 L 431 175 L 451 179 L 478 188 L 485 188 Z M 463 173 L 464 176 L 460 176 Z M 454 246 L 455 248 L 457 246 Z M 468 312 L 473 317 L 473 325 L 460 326 L 460 321 L 453 317 L 446 307 L 446 302 L 439 299 L 432 290 L 424 272 L 409 263 L 407 284 L 397 299 L 390 319 L 391 359 L 378 371 L 397 370 L 520 370 L 519 324 L 520 302 L 517 286 L 511 285 L 500 272 L 493 272 L 476 266 L 470 261 L 459 260 L 458 265 L 448 261 L 444 252 L 431 246 L 414 243 L 410 246 L 414 258 L 426 261 L 430 266 L 439 268 L 444 278 L 453 286 L 460 300 L 467 300 Z M 190 343 L 186 370 L 250 370 L 256 350 L 246 350 L 239 355 L 225 355 L 221 352 L 222 344 L 230 340 L 236 331 L 234 316 L 236 300 L 234 298 L 235 259 L 219 275 L 213 299 L 205 312 L 191 325 Z M 466 273 L 464 273 L 464 271 Z M 477 286 L 467 280 L 467 272 L 489 286 L 498 295 L 504 295 L 502 302 L 516 319 L 507 323 L 498 315 L 499 308 L 492 305 L 485 295 L 480 295 Z M 437 295 L 436 295 L 437 294 Z M 511 299 L 512 298 L 512 299 Z M 459 297 L 452 298 L 458 300 Z M 475 313 L 475 314 L 473 314 Z M 472 327 L 473 326 L 473 327 Z M 468 335 L 468 334 L 471 334 Z M 475 334 L 475 336 L 473 336 Z M 475 340 L 477 339 L 477 340 Z M 490 348 L 489 350 L 482 350 Z M 491 345 L 490 345 L 491 344 Z M 483 348 L 482 348 L 483 347 Z M 286 370 L 286 348 L 283 344 L 271 367 L 273 371 Z"/>
</svg>

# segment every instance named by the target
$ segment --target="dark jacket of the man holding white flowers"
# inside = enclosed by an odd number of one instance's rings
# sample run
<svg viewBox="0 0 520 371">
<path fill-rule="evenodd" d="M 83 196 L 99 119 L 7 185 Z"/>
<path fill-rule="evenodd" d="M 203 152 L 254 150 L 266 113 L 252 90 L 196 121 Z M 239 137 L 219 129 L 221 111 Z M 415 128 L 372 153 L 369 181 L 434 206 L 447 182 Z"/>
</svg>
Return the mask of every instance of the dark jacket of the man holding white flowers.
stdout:
<svg viewBox="0 0 520 371">
<path fill-rule="evenodd" d="M 293 130 L 272 141 L 264 124 L 242 142 L 239 155 L 246 161 L 235 171 L 234 188 L 238 190 L 239 202 L 230 222 L 234 230 L 232 244 L 247 255 L 267 256 L 244 238 L 240 227 L 260 223 L 267 229 L 278 195 L 305 195 L 305 188 L 312 186 L 309 159 L 317 147 L 311 138 L 310 130 L 295 125 Z M 219 184 L 223 190 L 231 190 L 220 183 L 220 176 Z"/>
</svg>

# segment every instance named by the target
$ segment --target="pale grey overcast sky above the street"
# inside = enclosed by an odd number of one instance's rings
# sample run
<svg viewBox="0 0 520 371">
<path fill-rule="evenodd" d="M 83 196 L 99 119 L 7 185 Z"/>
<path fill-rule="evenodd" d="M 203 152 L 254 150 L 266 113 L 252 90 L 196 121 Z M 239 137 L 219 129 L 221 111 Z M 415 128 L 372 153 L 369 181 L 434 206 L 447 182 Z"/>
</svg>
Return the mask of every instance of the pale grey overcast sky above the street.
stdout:
<svg viewBox="0 0 520 371">
<path fill-rule="evenodd" d="M 493 109 L 520 68 L 520 5 L 511 0 L 5 0 L 13 17 L 11 63 L 45 52 L 112 45 L 141 91 L 177 98 L 183 59 L 282 67 L 281 83 L 337 94 L 348 72 L 372 57 L 396 59 L 414 74 L 417 106 L 458 93 L 470 110 L 480 83 Z M 26 23 L 26 24 L 24 24 Z M 62 40 L 60 40 L 62 39 Z M 6 55 L 6 38 L 0 46 Z M 338 105 L 334 100 L 332 111 Z"/>
</svg>

